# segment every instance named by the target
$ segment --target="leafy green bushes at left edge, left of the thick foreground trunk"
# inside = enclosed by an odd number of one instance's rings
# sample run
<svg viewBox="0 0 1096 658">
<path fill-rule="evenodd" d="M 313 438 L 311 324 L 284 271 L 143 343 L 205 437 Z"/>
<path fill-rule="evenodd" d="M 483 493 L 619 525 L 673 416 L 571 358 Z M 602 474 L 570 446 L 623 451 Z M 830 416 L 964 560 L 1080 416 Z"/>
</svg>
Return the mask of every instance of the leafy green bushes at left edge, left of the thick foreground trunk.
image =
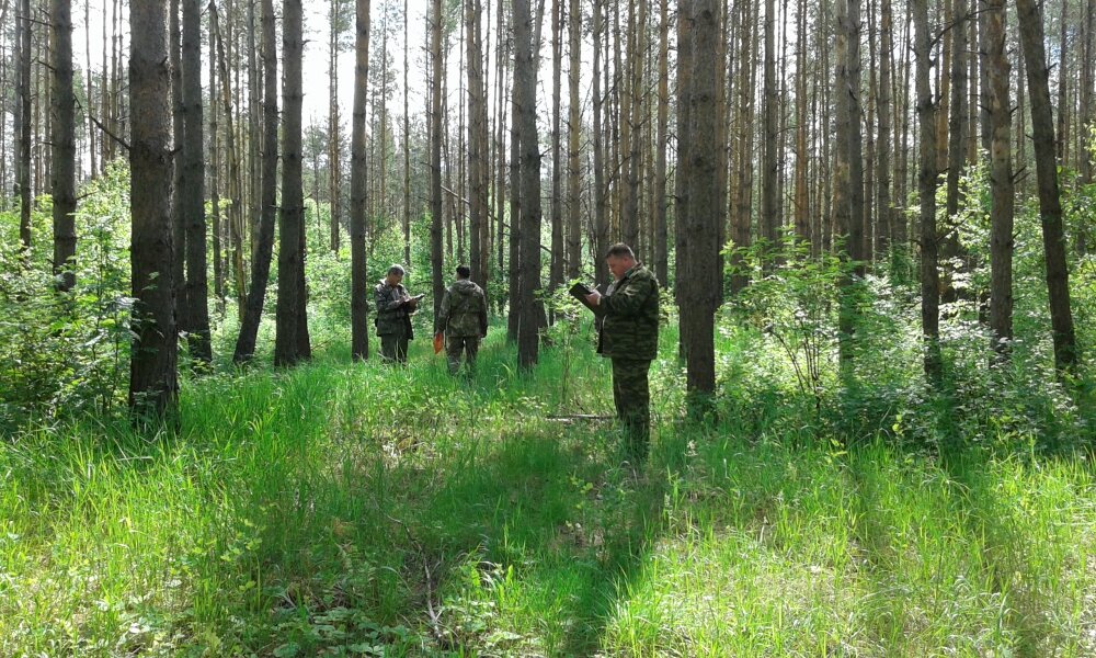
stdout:
<svg viewBox="0 0 1096 658">
<path fill-rule="evenodd" d="M 76 287 L 55 291 L 48 198 L 32 214 L 33 248 L 19 249 L 19 215 L 0 214 L 0 433 L 30 419 L 110 413 L 129 372 L 129 172 L 90 183 L 77 215 Z"/>
</svg>

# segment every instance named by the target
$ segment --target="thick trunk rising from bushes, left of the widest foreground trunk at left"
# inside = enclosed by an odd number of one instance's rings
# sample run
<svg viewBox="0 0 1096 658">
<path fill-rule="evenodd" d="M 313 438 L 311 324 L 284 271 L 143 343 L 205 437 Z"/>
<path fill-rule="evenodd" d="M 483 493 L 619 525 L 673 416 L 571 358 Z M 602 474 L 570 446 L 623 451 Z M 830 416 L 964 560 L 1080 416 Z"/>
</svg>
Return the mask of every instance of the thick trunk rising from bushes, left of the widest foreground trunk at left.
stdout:
<svg viewBox="0 0 1096 658">
<path fill-rule="evenodd" d="M 76 285 L 76 95 L 72 92 L 72 2 L 52 0 L 54 272 L 58 288 Z"/>
</svg>

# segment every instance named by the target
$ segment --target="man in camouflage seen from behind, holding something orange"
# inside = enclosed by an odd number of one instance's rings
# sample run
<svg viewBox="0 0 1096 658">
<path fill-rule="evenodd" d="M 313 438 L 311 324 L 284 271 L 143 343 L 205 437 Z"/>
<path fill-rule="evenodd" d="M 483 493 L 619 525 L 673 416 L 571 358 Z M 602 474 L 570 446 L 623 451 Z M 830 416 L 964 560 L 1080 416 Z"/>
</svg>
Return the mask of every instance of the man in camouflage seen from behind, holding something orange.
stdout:
<svg viewBox="0 0 1096 658">
<path fill-rule="evenodd" d="M 457 265 L 457 280 L 445 290 L 442 309 L 434 324 L 434 333 L 445 332 L 445 355 L 449 374 L 460 370 L 460 353 L 466 354 L 468 374 L 476 371 L 476 354 L 480 339 L 487 336 L 487 297 L 483 288 L 469 276 L 468 265 Z"/>
</svg>

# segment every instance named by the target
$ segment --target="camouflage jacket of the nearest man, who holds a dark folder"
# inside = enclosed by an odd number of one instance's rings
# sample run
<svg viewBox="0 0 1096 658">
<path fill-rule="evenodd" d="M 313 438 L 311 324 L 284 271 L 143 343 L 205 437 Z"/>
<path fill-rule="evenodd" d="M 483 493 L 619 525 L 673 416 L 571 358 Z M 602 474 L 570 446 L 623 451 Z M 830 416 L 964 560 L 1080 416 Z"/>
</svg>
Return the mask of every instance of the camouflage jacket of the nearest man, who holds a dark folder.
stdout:
<svg viewBox="0 0 1096 658">
<path fill-rule="evenodd" d="M 601 300 L 597 353 L 651 361 L 659 351 L 659 280 L 637 264 L 613 282 Z"/>
</svg>

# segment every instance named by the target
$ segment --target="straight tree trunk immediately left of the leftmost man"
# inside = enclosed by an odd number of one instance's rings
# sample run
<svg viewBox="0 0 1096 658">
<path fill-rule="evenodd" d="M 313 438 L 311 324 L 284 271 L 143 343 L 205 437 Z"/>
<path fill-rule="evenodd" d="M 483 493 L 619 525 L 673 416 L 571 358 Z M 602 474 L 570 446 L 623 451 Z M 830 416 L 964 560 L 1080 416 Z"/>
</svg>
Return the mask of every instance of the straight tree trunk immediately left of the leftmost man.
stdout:
<svg viewBox="0 0 1096 658">
<path fill-rule="evenodd" d="M 351 354 L 369 358 L 369 274 L 366 271 L 365 206 L 368 184 L 365 109 L 369 80 L 369 0 L 355 5 L 354 114 L 351 126 L 350 164 L 350 253 L 351 253 Z"/>
</svg>

